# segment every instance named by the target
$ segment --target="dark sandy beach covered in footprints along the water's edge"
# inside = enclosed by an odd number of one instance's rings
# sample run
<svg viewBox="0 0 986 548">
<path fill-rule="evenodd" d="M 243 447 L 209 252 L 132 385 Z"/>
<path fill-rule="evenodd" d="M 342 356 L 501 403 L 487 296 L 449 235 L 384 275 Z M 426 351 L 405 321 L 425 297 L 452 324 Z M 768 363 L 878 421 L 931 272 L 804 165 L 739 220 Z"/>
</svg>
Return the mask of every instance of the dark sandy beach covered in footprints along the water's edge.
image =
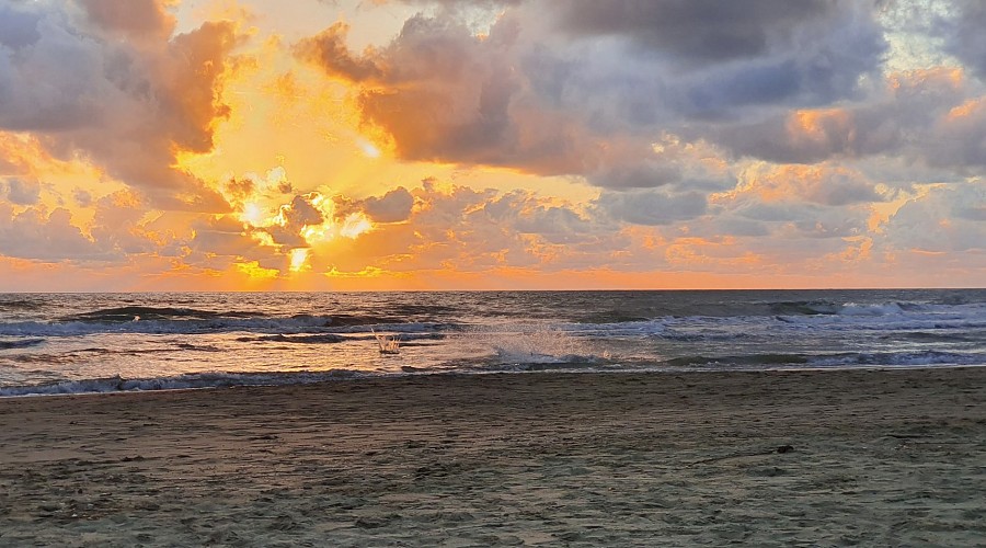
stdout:
<svg viewBox="0 0 986 548">
<path fill-rule="evenodd" d="M 986 543 L 986 368 L 0 400 L 0 546 Z"/>
</svg>

